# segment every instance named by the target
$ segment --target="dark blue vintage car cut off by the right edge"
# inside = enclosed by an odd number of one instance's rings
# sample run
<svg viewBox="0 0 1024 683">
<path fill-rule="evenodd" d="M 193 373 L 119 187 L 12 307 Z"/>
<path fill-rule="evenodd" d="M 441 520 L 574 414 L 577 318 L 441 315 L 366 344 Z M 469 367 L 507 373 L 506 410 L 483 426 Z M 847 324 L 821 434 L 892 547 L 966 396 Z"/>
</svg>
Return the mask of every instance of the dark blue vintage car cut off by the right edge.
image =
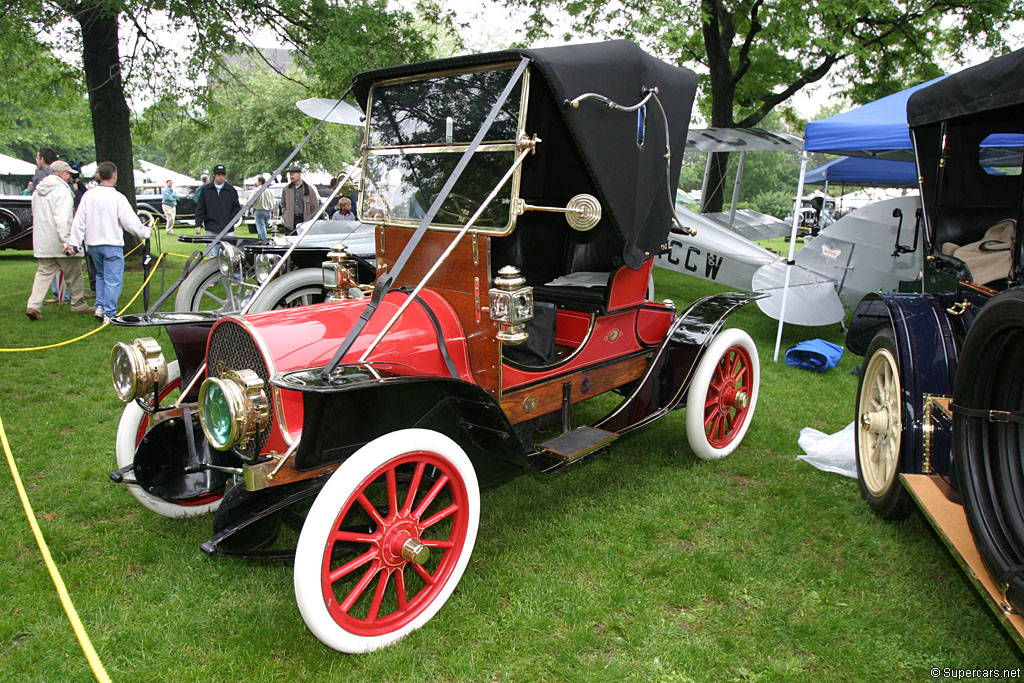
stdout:
<svg viewBox="0 0 1024 683">
<path fill-rule="evenodd" d="M 864 355 L 857 471 L 886 519 L 922 507 L 1024 643 L 1024 50 L 907 102 L 924 207 L 915 293 L 872 294 L 847 335 Z M 982 151 L 1001 147 L 1002 165 Z M 924 291 L 922 291 L 922 289 Z M 963 505 L 963 508 L 961 508 Z M 943 507 L 944 506 L 944 507 Z M 941 510 L 947 510 L 941 512 Z M 945 524 L 966 516 L 964 532 Z M 970 532 L 967 531 L 970 529 Z M 970 563 L 971 550 L 987 567 Z"/>
</svg>

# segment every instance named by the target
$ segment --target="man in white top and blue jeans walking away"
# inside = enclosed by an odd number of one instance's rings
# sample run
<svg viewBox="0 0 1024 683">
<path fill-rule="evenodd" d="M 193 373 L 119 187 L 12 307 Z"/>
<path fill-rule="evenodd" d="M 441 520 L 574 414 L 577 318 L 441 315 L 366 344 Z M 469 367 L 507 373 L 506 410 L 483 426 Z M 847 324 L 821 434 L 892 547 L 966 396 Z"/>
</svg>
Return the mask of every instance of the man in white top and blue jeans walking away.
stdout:
<svg viewBox="0 0 1024 683">
<path fill-rule="evenodd" d="M 124 230 L 140 240 L 150 237 L 128 199 L 114 188 L 118 167 L 104 161 L 96 166 L 99 184 L 82 196 L 71 226 L 70 248 L 89 247 L 89 258 L 96 266 L 96 317 L 109 323 L 118 314 L 118 299 L 124 286 Z"/>
</svg>

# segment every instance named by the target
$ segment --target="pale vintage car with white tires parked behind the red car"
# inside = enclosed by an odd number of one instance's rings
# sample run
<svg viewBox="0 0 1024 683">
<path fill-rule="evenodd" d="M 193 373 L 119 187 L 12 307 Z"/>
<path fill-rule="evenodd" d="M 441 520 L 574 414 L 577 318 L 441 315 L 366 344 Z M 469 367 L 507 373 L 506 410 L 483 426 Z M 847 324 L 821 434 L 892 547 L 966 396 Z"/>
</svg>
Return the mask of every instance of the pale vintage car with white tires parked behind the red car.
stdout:
<svg viewBox="0 0 1024 683">
<path fill-rule="evenodd" d="M 305 224 L 299 226 L 299 231 L 303 227 Z M 304 236 L 274 236 L 269 240 L 224 236 L 217 247 L 216 258 L 196 264 L 177 288 L 174 310 L 239 312 L 267 282 L 292 245 L 296 245 L 295 248 L 249 312 L 322 303 L 329 294 L 324 287 L 322 265 L 331 248 L 342 240 L 356 263 L 356 281 L 372 283 L 375 280 L 374 229 L 370 223 L 317 220 Z M 197 245 L 212 240 L 206 234 L 178 237 L 179 242 Z"/>
</svg>

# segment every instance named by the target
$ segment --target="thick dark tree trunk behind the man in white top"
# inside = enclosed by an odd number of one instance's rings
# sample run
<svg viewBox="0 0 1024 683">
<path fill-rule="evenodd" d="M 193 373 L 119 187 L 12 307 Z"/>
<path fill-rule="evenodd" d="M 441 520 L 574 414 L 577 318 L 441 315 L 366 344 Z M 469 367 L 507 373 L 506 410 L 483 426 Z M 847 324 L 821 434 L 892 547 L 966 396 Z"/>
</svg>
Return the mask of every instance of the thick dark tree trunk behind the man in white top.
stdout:
<svg viewBox="0 0 1024 683">
<path fill-rule="evenodd" d="M 90 0 L 79 5 L 75 18 L 82 27 L 82 63 L 89 91 L 96 161 L 112 161 L 117 165 L 117 188 L 134 207 L 131 113 L 121 80 L 118 12 L 108 7 L 103 0 Z M 125 232 L 126 250 L 138 242 L 134 234 Z"/>
</svg>

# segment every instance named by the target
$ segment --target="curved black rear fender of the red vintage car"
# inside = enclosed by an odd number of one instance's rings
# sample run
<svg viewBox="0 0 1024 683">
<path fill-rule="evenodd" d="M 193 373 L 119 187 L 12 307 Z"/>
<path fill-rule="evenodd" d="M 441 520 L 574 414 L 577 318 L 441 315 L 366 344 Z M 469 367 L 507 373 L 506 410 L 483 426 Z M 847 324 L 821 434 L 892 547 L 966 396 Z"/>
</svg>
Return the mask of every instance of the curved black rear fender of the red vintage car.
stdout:
<svg viewBox="0 0 1024 683">
<path fill-rule="evenodd" d="M 623 434 L 683 408 L 705 349 L 739 307 L 765 296 L 725 292 L 693 302 L 673 322 L 634 390 L 595 426 Z"/>
</svg>

